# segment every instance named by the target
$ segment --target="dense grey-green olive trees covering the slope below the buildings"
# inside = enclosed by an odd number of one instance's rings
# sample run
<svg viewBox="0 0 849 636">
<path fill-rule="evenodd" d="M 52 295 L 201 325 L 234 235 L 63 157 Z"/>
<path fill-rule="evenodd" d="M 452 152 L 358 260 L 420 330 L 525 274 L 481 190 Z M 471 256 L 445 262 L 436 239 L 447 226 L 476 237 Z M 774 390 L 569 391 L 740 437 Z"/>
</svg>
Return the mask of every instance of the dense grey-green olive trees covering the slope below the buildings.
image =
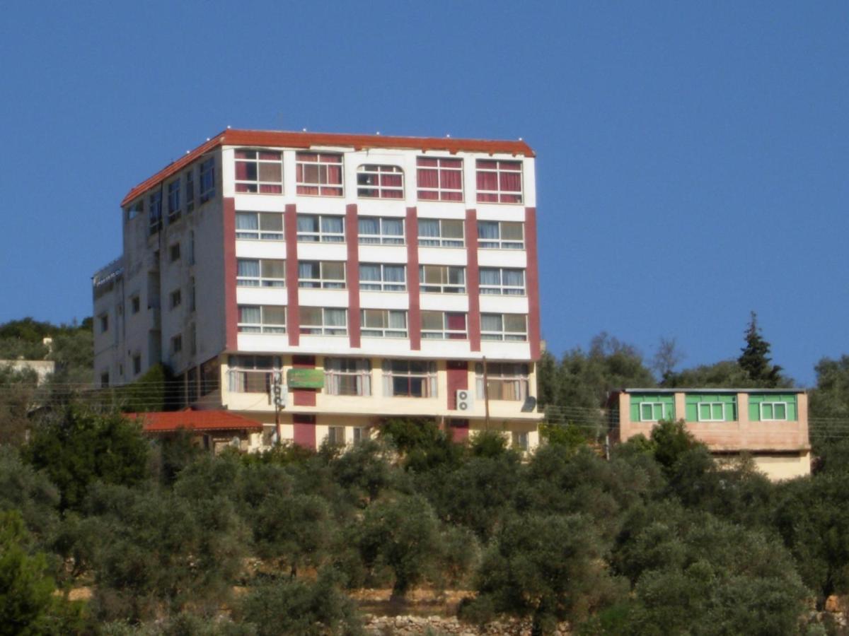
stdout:
<svg viewBox="0 0 849 636">
<path fill-rule="evenodd" d="M 75 418 L 91 444 L 124 422 Z M 22 511 L 39 576 L 91 585 L 103 633 L 353 634 L 347 589 L 404 603 L 424 586 L 472 590 L 464 619 L 526 616 L 535 633 L 792 634 L 812 603 L 849 594 L 849 448 L 775 484 L 745 460 L 717 466 L 675 422 L 610 460 L 576 432 L 523 458 L 496 432 L 451 444 L 394 421 L 351 449 L 157 444 L 129 455 L 130 476 L 66 439 L 25 446 L 41 472 L 3 449 L 0 510 Z"/>
</svg>

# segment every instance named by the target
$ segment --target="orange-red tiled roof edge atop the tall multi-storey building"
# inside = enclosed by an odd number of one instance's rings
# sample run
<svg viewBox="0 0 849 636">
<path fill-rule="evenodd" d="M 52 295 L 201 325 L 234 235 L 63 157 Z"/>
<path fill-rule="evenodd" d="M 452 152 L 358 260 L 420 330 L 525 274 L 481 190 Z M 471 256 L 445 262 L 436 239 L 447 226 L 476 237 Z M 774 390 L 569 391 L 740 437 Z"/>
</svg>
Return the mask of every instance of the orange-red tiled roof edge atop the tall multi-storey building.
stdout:
<svg viewBox="0 0 849 636">
<path fill-rule="evenodd" d="M 522 141 L 490 139 L 454 139 L 453 137 L 391 137 L 388 135 L 348 135 L 336 132 L 292 131 L 221 131 L 208 142 L 200 144 L 184 157 L 133 187 L 121 201 L 126 205 L 139 194 L 165 181 L 201 155 L 217 146 L 273 146 L 277 148 L 312 148 L 313 146 L 342 146 L 357 150 L 363 148 L 402 148 L 408 150 L 444 150 L 449 153 L 509 153 L 536 156 L 530 146 Z"/>
</svg>

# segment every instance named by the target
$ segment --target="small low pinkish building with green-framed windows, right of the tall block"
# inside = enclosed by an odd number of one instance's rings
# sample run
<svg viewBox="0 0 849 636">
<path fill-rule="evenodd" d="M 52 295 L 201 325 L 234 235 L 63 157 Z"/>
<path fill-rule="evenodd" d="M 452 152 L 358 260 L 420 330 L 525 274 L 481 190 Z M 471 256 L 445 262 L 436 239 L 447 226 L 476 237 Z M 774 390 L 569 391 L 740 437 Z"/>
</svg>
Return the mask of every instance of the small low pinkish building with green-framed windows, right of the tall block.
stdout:
<svg viewBox="0 0 849 636">
<path fill-rule="evenodd" d="M 811 444 L 801 389 L 623 388 L 608 402 L 614 441 L 649 437 L 661 420 L 683 421 L 717 458 L 751 455 L 771 479 L 807 475 Z"/>
</svg>

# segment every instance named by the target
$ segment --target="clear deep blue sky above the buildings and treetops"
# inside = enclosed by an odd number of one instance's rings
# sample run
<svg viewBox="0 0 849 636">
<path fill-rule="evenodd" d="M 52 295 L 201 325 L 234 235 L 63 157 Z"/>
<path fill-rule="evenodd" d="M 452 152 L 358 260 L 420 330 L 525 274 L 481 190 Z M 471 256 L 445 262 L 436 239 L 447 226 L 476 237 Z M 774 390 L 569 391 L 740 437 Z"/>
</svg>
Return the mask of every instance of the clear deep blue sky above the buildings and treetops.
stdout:
<svg viewBox="0 0 849 636">
<path fill-rule="evenodd" d="M 543 338 L 683 366 L 756 310 L 802 384 L 849 353 L 849 4 L 8 3 L 0 321 L 91 313 L 119 202 L 225 126 L 524 137 Z"/>
</svg>

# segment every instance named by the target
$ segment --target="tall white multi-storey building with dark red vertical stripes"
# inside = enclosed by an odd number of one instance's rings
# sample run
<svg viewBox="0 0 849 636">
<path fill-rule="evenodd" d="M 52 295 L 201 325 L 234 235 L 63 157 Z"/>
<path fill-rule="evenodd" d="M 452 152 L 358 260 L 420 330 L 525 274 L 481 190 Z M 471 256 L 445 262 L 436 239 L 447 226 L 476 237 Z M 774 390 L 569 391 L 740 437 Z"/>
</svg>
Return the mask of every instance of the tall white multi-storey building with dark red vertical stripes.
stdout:
<svg viewBox="0 0 849 636">
<path fill-rule="evenodd" d="M 426 165 L 432 159 L 447 167 Z M 204 182 L 210 165 L 214 181 Z M 427 200 L 434 179 L 436 196 L 460 200 Z M 266 374 L 282 371 L 285 378 L 295 367 L 314 369 L 325 374 L 325 386 L 286 392 L 284 438 L 320 444 L 328 427 L 345 427 L 332 436 L 351 441 L 354 429 L 368 431 L 381 417 L 426 416 L 453 425 L 458 438 L 493 427 L 533 446 L 541 418 L 533 400 L 539 355 L 534 183 L 533 153 L 523 142 L 225 131 L 123 202 L 123 255 L 93 279 L 96 378 L 132 382 L 161 361 L 183 382 L 188 404 L 238 410 L 267 424 L 271 438 L 275 417 Z M 243 192 L 261 188 L 278 192 Z M 402 196 L 374 196 L 384 192 Z M 318 217 L 318 227 L 308 230 L 302 215 Z M 384 224 L 381 219 L 393 228 L 401 221 L 402 237 L 392 234 L 389 244 L 380 244 L 380 237 L 374 243 L 363 234 L 364 227 Z M 451 236 L 433 237 L 437 226 Z M 519 230 L 520 240 L 506 238 Z M 381 279 L 368 288 L 375 283 L 363 279 L 363 271 L 374 276 L 375 265 L 383 266 L 380 276 L 386 267 L 394 266 L 391 276 L 404 267 L 402 284 Z M 321 273 L 343 270 L 344 282 Z M 319 272 L 318 279 L 305 271 Z M 426 284 L 443 274 L 445 284 Z M 492 283 L 507 276 L 509 284 Z M 440 316 L 442 326 L 435 327 Z M 393 328 L 374 328 L 382 320 L 393 321 Z M 359 371 L 336 371 L 340 358 Z M 487 373 L 486 395 L 476 372 L 485 359 L 495 374 Z M 393 360 L 418 360 L 416 368 L 427 366 L 429 377 L 413 377 L 403 389 Z M 248 362 L 261 368 L 245 368 Z M 475 395 L 469 410 L 457 410 L 458 388 Z M 335 394 L 340 391 L 360 394 Z"/>
</svg>

